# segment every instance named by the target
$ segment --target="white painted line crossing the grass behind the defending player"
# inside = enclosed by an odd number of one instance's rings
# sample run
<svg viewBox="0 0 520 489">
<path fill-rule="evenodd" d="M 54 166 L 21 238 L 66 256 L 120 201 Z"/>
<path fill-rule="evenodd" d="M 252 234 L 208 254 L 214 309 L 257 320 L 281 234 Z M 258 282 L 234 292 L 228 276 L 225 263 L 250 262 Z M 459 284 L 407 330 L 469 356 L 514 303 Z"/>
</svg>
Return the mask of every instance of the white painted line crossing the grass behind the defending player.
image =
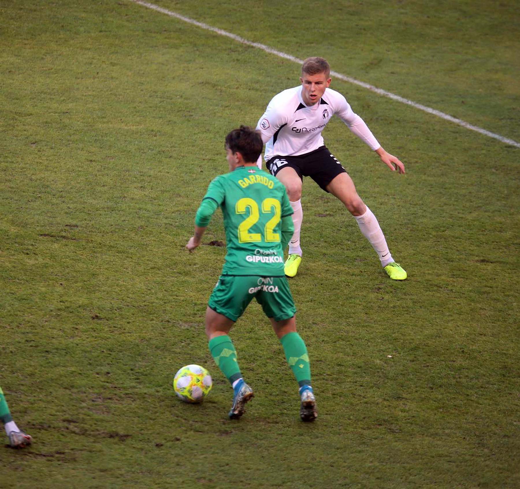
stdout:
<svg viewBox="0 0 520 489">
<path fill-rule="evenodd" d="M 208 24 L 205 24 L 204 22 L 199 22 L 198 20 L 190 19 L 189 17 L 185 17 L 184 15 L 177 14 L 177 12 L 167 10 L 166 8 L 159 7 L 158 5 L 154 5 L 154 4 L 151 4 L 148 2 L 142 2 L 142 0 L 132 0 L 132 2 L 135 2 L 136 4 L 142 5 L 144 7 L 151 8 L 152 10 L 157 10 L 158 12 L 161 12 L 162 14 L 166 14 L 170 17 L 175 17 L 176 19 L 183 20 L 184 22 L 193 24 L 193 26 L 200 27 L 202 29 L 205 29 L 206 31 L 212 31 L 212 32 L 216 32 L 217 34 L 230 37 L 231 39 L 238 41 L 239 43 L 246 44 L 246 45 L 252 46 L 252 47 L 257 47 L 258 49 L 262 49 L 262 51 L 265 51 L 266 53 L 274 54 L 276 56 L 279 56 L 280 58 L 289 59 L 290 61 L 294 61 L 295 63 L 298 63 L 300 65 L 303 63 L 303 59 L 296 58 L 287 53 L 282 53 L 281 51 L 277 51 L 276 49 L 273 49 L 272 47 L 266 46 L 265 44 L 254 43 L 254 42 L 248 41 L 247 39 L 244 39 L 243 37 L 240 37 L 236 34 L 231 34 L 230 32 L 224 31 L 223 29 L 218 29 L 217 27 L 209 26 Z M 463 128 L 471 129 L 472 131 L 476 131 L 480 134 L 484 134 L 485 136 L 489 136 L 489 137 L 498 139 L 502 143 L 510 144 L 511 146 L 516 146 L 517 148 L 520 148 L 520 143 L 518 143 L 512 139 L 508 139 L 507 137 L 501 136 L 500 134 L 495 134 L 494 132 L 490 132 L 490 131 L 487 131 L 486 129 L 479 128 L 478 126 L 473 126 L 473 124 L 470 124 L 469 122 L 465 122 L 461 119 L 457 119 L 456 117 L 452 117 L 448 114 L 445 114 L 444 112 L 441 112 L 440 110 L 432 109 L 431 107 L 426 107 L 425 105 L 413 102 L 413 101 L 409 100 L 408 98 L 400 97 L 399 95 L 395 95 L 394 93 L 387 92 L 386 90 L 378 89 L 378 87 L 376 87 L 374 85 L 370 85 L 369 83 L 365 83 L 365 82 L 356 80 L 355 78 L 347 77 L 344 74 L 337 73 L 336 71 L 331 71 L 330 74 L 333 77 L 339 78 L 340 80 L 362 86 L 363 88 L 370 90 L 371 92 L 375 92 L 379 95 L 383 95 L 384 97 L 391 98 L 397 102 L 401 102 L 402 104 L 411 105 L 412 107 L 414 107 L 416 109 L 423 110 L 424 112 L 428 112 L 428 114 L 433 114 L 434 116 L 440 117 L 441 119 L 448 120 L 450 122 L 458 124 L 459 126 L 462 126 Z"/>
</svg>

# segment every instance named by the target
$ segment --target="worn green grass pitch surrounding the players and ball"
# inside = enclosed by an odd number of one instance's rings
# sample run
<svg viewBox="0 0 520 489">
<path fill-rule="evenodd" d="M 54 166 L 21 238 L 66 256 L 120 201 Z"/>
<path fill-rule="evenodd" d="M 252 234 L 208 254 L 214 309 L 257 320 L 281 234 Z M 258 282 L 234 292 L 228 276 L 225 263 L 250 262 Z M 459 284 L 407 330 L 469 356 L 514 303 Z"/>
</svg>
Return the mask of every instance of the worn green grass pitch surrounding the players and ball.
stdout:
<svg viewBox="0 0 520 489">
<path fill-rule="evenodd" d="M 520 140 L 514 2 L 158 4 Z M 184 245 L 224 136 L 298 66 L 125 0 L 0 20 L 0 385 L 35 440 L 2 451 L 0 485 L 520 485 L 517 148 L 333 81 L 407 166 L 324 132 L 409 279 L 306 181 L 291 288 L 319 418 L 298 420 L 252 305 L 232 337 L 256 397 L 230 422 L 203 333 L 225 248 Z M 192 362 L 214 379 L 200 406 L 171 387 Z"/>
</svg>

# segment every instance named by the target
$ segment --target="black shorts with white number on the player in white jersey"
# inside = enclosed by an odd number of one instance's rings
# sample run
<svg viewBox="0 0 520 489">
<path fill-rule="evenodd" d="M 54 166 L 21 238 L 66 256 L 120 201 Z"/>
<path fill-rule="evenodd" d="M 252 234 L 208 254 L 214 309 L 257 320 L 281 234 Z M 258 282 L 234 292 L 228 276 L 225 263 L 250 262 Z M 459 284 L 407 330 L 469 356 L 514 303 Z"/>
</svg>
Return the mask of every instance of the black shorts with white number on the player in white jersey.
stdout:
<svg viewBox="0 0 520 489">
<path fill-rule="evenodd" d="M 273 156 L 267 161 L 266 167 L 271 172 L 271 175 L 275 177 L 282 168 L 291 167 L 302 181 L 303 177 L 310 177 L 325 192 L 328 192 L 327 185 L 337 175 L 347 172 L 325 146 L 321 146 L 305 155 Z"/>
</svg>

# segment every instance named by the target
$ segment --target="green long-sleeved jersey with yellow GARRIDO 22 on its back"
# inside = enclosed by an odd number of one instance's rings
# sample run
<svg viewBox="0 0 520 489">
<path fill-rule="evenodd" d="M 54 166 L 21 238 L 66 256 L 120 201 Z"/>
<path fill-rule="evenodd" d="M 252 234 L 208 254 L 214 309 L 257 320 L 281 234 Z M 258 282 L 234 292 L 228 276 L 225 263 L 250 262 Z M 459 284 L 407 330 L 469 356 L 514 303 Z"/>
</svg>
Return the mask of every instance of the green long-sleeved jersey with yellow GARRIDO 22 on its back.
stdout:
<svg viewBox="0 0 520 489">
<path fill-rule="evenodd" d="M 217 206 L 227 242 L 222 273 L 283 276 L 282 240 L 287 244 L 293 231 L 292 219 L 284 219 L 293 210 L 283 184 L 256 166 L 238 167 L 210 183 L 195 223 L 205 227 Z"/>
</svg>

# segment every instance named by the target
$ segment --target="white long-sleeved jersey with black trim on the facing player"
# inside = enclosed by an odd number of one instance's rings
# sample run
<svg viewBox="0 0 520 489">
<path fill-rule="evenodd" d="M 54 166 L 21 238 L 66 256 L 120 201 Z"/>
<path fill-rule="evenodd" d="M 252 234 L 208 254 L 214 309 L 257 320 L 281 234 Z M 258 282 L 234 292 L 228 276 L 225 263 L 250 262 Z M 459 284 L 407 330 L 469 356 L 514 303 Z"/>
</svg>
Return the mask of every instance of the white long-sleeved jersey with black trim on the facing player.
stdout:
<svg viewBox="0 0 520 489">
<path fill-rule="evenodd" d="M 298 156 L 323 146 L 321 131 L 337 114 L 373 150 L 380 144 L 367 124 L 354 113 L 345 97 L 335 90 L 325 89 L 315 105 L 305 105 L 302 85 L 284 90 L 272 97 L 256 129 L 265 143 L 265 160 L 273 156 Z"/>
</svg>

